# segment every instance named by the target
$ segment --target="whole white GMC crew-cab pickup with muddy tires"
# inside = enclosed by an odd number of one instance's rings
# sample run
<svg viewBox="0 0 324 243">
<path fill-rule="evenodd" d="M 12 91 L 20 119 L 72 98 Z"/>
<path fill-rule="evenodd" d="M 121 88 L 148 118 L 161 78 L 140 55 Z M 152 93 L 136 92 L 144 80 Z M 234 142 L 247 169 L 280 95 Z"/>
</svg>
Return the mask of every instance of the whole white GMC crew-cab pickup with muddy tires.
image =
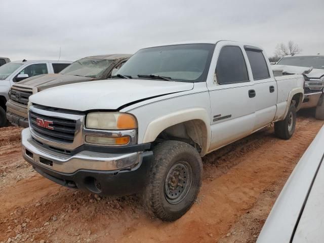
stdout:
<svg viewBox="0 0 324 243">
<path fill-rule="evenodd" d="M 289 139 L 302 75 L 273 77 L 263 50 L 199 42 L 138 51 L 108 80 L 30 96 L 23 157 L 44 177 L 98 194 L 140 193 L 180 218 L 201 185 L 201 157 L 274 123 Z"/>
</svg>

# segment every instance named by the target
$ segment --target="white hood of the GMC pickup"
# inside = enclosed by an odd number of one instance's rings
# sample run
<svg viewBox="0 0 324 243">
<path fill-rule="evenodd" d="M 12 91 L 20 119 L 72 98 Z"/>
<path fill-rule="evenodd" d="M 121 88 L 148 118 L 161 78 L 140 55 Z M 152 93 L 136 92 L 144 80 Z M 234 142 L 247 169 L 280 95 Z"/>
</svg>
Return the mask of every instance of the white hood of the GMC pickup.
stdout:
<svg viewBox="0 0 324 243">
<path fill-rule="evenodd" d="M 117 110 L 141 100 L 193 89 L 193 83 L 148 79 L 106 79 L 51 88 L 29 97 L 32 103 L 69 110 Z"/>
</svg>

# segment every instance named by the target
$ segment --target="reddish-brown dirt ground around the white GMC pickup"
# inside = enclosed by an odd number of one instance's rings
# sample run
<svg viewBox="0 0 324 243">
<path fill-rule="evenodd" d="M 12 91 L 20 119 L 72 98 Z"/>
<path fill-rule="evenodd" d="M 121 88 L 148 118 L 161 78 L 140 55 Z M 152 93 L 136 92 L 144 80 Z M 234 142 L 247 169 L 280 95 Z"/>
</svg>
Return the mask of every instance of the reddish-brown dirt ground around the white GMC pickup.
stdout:
<svg viewBox="0 0 324 243">
<path fill-rule="evenodd" d="M 0 195 L 0 242 L 18 234 L 17 242 L 30 238 L 48 242 L 254 242 L 279 190 L 322 124 L 300 116 L 291 140 L 279 140 L 272 128 L 266 128 L 207 155 L 196 203 L 172 223 L 149 218 L 135 196 L 101 198 L 29 172 L 26 179 L 9 182 Z M 261 216 L 251 213 L 258 207 L 263 209 Z M 259 219 L 254 221 L 249 214 Z"/>
</svg>

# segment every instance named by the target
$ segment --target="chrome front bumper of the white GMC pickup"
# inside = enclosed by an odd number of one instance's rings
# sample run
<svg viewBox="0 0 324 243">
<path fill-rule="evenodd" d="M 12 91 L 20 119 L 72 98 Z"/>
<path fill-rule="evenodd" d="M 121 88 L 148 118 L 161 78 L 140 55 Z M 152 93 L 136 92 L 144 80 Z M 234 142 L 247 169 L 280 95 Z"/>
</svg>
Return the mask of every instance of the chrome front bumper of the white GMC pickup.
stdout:
<svg viewBox="0 0 324 243">
<path fill-rule="evenodd" d="M 75 155 L 58 153 L 33 141 L 29 128 L 21 133 L 22 155 L 27 161 L 62 173 L 78 170 L 116 171 L 132 168 L 142 162 L 142 152 L 103 153 L 82 151 Z"/>
</svg>

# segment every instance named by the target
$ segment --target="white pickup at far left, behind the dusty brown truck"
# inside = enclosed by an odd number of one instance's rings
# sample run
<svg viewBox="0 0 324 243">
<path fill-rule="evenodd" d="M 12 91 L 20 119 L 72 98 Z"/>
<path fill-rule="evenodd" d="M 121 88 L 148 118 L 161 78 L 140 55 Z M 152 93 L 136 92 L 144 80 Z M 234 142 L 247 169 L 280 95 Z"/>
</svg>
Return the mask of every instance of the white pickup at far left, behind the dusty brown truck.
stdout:
<svg viewBox="0 0 324 243">
<path fill-rule="evenodd" d="M 12 85 L 28 77 L 56 73 L 70 65 L 71 61 L 22 60 L 6 63 L 0 67 L 0 128 L 6 126 L 6 103 Z"/>
</svg>

